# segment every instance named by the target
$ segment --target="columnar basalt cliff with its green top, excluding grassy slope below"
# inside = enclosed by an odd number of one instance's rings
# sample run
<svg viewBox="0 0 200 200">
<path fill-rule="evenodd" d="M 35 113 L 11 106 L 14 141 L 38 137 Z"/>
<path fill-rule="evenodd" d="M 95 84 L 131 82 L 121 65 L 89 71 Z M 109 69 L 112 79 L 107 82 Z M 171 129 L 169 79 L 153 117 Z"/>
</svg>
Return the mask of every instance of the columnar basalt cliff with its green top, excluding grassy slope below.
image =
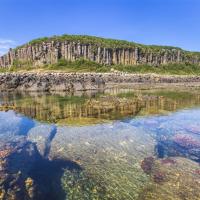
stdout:
<svg viewBox="0 0 200 200">
<path fill-rule="evenodd" d="M 0 57 L 0 67 L 15 63 L 43 66 L 58 60 L 85 59 L 103 65 L 183 63 L 200 64 L 200 53 L 169 46 L 146 46 L 123 40 L 93 36 L 63 35 L 33 40 Z"/>
</svg>

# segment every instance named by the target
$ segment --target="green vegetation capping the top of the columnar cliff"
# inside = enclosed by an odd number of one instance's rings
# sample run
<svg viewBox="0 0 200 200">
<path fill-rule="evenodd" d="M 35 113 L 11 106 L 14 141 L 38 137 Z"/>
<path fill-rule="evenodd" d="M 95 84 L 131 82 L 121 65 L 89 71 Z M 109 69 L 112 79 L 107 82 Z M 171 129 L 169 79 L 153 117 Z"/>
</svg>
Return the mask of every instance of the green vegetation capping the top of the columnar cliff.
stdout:
<svg viewBox="0 0 200 200">
<path fill-rule="evenodd" d="M 15 50 L 20 49 L 24 46 L 28 45 L 37 45 L 47 42 L 74 42 L 81 43 L 85 45 L 92 45 L 92 49 L 94 52 L 97 52 L 98 47 L 108 48 L 108 49 L 131 49 L 131 48 L 139 48 L 140 52 L 154 52 L 157 54 L 164 54 L 166 50 L 170 51 L 173 54 L 174 51 L 180 50 L 182 54 L 184 54 L 188 58 L 192 57 L 200 57 L 200 52 L 192 52 L 185 51 L 179 47 L 173 46 L 161 46 L 161 45 L 144 45 L 135 42 L 130 42 L 126 40 L 117 40 L 110 38 L 102 38 L 96 36 L 88 36 L 88 35 L 61 35 L 61 36 L 52 36 L 52 37 L 43 37 L 34 39 L 22 46 L 17 47 Z M 163 51 L 164 50 L 164 51 Z"/>
</svg>

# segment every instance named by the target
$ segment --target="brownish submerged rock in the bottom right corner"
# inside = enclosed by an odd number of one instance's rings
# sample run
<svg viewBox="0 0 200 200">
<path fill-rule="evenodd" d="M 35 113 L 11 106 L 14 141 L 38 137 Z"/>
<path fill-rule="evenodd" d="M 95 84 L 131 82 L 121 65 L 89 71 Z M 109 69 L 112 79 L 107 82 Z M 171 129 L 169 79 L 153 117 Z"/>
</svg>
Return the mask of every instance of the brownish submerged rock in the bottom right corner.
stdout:
<svg viewBox="0 0 200 200">
<path fill-rule="evenodd" d="M 172 159 L 172 158 L 169 158 Z M 141 191 L 138 200 L 199 200 L 200 176 L 198 163 L 186 158 L 174 157 L 176 164 L 163 164 L 155 160 L 152 179 Z"/>
</svg>

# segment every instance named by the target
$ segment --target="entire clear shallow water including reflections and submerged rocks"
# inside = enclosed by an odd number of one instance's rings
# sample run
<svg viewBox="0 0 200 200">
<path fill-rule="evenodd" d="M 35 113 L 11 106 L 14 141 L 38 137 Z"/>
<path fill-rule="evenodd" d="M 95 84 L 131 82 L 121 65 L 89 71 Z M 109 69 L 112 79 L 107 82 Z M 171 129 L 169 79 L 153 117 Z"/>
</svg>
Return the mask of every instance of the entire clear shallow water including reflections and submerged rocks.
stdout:
<svg viewBox="0 0 200 200">
<path fill-rule="evenodd" d="M 200 199 L 200 93 L 2 93 L 0 199 Z"/>
</svg>

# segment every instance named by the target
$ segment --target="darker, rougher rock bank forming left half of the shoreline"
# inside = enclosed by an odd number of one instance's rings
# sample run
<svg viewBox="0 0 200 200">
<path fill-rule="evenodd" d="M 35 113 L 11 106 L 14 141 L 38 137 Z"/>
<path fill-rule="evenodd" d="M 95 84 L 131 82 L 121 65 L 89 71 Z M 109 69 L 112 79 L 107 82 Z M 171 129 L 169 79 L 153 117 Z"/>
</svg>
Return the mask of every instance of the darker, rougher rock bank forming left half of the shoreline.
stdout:
<svg viewBox="0 0 200 200">
<path fill-rule="evenodd" d="M 103 89 L 100 75 L 67 73 L 0 74 L 0 90 L 76 91 Z"/>
</svg>

